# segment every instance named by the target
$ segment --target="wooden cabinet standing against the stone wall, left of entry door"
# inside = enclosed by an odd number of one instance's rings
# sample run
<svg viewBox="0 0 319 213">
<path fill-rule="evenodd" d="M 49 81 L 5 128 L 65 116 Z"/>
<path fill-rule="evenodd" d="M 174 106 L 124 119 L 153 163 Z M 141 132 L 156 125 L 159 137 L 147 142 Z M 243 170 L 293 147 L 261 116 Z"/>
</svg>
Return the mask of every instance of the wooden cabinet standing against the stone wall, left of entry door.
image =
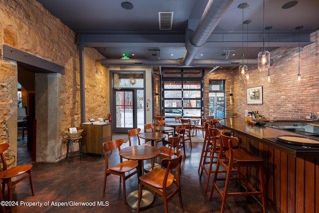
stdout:
<svg viewBox="0 0 319 213">
<path fill-rule="evenodd" d="M 85 153 L 103 155 L 102 144 L 112 140 L 111 124 L 81 124 L 82 150 Z"/>
</svg>

